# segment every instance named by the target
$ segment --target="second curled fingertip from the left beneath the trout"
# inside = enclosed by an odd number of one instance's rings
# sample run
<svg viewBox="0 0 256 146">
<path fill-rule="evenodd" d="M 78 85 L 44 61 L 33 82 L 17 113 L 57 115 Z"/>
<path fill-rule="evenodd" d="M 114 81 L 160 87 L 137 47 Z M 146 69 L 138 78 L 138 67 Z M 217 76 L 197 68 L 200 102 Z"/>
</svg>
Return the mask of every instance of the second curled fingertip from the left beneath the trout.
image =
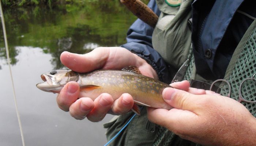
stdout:
<svg viewBox="0 0 256 146">
<path fill-rule="evenodd" d="M 71 104 L 69 107 L 69 113 L 77 120 L 82 120 L 93 109 L 94 103 L 90 98 L 82 97 Z"/>
</svg>

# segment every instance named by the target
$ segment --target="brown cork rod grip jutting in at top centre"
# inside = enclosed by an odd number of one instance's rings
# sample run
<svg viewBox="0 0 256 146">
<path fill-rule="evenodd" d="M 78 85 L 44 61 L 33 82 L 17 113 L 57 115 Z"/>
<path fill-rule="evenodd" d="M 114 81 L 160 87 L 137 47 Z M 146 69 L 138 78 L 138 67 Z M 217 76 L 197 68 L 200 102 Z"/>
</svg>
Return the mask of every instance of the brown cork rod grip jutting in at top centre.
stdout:
<svg viewBox="0 0 256 146">
<path fill-rule="evenodd" d="M 120 0 L 135 16 L 151 27 L 157 24 L 158 16 L 140 0 Z"/>
</svg>

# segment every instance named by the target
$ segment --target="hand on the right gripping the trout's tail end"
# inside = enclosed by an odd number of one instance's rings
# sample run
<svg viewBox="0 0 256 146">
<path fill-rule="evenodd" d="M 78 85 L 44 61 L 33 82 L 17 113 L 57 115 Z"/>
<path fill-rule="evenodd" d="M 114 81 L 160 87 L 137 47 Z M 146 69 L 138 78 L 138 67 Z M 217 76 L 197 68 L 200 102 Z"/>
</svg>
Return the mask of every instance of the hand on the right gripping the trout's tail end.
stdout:
<svg viewBox="0 0 256 146">
<path fill-rule="evenodd" d="M 203 145 L 255 145 L 256 119 L 236 100 L 189 88 L 188 81 L 165 88 L 171 110 L 147 108 L 148 119 L 181 138 Z"/>
</svg>

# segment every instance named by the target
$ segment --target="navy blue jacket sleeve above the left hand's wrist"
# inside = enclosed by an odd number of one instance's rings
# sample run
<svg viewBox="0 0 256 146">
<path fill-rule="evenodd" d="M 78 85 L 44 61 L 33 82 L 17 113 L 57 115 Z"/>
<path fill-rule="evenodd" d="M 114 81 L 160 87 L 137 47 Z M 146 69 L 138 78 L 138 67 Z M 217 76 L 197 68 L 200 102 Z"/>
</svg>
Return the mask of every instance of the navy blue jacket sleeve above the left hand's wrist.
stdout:
<svg viewBox="0 0 256 146">
<path fill-rule="evenodd" d="M 158 16 L 160 15 L 161 11 L 159 11 L 155 0 L 150 0 L 148 7 L 150 7 Z M 155 69 L 159 80 L 170 83 L 172 75 L 169 71 L 169 66 L 165 63 L 161 55 L 153 49 L 153 30 L 153 27 L 144 23 L 142 20 L 137 19 L 127 32 L 127 43 L 121 45 L 121 47 L 124 47 L 145 59 L 148 64 Z"/>
</svg>

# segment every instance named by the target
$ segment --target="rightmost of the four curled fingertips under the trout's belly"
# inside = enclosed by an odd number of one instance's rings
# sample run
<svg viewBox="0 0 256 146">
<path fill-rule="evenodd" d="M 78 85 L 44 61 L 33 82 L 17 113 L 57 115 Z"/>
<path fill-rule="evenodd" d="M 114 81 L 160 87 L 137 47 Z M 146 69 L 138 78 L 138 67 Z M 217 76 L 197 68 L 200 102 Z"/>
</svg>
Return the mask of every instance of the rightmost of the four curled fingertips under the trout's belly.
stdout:
<svg viewBox="0 0 256 146">
<path fill-rule="evenodd" d="M 114 115 L 125 114 L 132 109 L 133 98 L 128 93 L 124 93 L 114 101 L 112 112 Z"/>
</svg>

